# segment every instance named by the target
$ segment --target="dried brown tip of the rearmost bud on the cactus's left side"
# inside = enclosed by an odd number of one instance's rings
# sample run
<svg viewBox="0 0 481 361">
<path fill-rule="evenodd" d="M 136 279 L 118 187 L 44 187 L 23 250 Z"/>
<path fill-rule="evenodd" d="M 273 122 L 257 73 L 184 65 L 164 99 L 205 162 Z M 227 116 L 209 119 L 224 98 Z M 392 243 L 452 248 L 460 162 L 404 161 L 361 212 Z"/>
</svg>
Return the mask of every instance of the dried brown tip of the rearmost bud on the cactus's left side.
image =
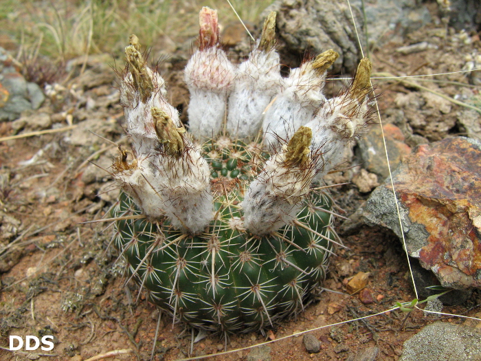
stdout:
<svg viewBox="0 0 481 361">
<path fill-rule="evenodd" d="M 135 35 L 129 38 L 131 45 L 125 48 L 126 61 L 132 74 L 132 85 L 139 92 L 142 102 L 146 102 L 152 95 L 154 84 L 147 72 L 146 62 L 139 52 L 139 39 Z"/>
</svg>

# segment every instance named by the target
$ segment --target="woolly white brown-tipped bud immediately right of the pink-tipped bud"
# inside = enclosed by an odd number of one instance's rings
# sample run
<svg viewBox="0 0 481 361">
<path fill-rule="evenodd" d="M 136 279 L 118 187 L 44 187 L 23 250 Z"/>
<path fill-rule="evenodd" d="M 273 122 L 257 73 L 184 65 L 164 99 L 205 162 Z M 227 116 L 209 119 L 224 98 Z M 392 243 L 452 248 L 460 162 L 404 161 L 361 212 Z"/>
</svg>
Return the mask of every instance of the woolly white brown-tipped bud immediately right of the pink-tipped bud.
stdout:
<svg viewBox="0 0 481 361">
<path fill-rule="evenodd" d="M 227 116 L 227 131 L 238 138 L 254 138 L 257 135 L 263 112 L 283 81 L 279 54 L 273 49 L 275 28 L 276 12 L 271 12 L 256 47 L 247 61 L 238 66 Z"/>
</svg>

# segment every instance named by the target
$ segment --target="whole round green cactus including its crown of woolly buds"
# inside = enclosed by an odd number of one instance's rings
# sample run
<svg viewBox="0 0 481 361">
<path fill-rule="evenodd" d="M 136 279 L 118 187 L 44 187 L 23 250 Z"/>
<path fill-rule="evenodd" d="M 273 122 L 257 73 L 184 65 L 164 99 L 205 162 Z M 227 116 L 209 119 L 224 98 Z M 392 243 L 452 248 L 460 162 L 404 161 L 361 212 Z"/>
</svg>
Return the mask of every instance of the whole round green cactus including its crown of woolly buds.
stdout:
<svg viewBox="0 0 481 361">
<path fill-rule="evenodd" d="M 132 149 L 113 175 L 115 244 L 150 300 L 194 329 L 273 327 L 302 311 L 333 252 L 322 176 L 370 123 L 370 61 L 339 96 L 322 93 L 328 50 L 284 78 L 275 13 L 249 58 L 230 63 L 216 11 L 200 13 L 185 69 L 188 131 L 135 35 L 120 87 Z"/>
</svg>

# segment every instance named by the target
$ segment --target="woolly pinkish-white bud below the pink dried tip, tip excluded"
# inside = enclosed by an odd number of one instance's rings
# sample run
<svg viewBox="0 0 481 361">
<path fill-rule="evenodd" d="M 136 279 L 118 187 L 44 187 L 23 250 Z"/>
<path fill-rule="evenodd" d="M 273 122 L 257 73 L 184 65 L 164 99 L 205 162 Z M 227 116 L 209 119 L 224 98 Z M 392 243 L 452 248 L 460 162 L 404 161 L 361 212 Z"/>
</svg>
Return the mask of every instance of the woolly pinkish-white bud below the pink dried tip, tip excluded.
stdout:
<svg viewBox="0 0 481 361">
<path fill-rule="evenodd" d="M 223 50 L 208 47 L 192 55 L 184 72 L 190 92 L 190 132 L 199 140 L 211 138 L 221 131 L 236 69 Z"/>
</svg>

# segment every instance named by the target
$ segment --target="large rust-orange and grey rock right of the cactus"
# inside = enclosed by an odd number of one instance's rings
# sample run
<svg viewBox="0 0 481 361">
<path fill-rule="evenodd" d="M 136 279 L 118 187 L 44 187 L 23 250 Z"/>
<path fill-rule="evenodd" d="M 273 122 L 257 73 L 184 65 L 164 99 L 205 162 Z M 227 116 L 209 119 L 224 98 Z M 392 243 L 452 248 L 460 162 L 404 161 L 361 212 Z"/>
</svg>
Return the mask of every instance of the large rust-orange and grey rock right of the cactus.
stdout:
<svg viewBox="0 0 481 361">
<path fill-rule="evenodd" d="M 417 146 L 393 182 L 410 256 L 445 287 L 481 287 L 481 142 L 456 137 Z M 372 192 L 363 217 L 401 237 L 390 182 Z"/>
</svg>

